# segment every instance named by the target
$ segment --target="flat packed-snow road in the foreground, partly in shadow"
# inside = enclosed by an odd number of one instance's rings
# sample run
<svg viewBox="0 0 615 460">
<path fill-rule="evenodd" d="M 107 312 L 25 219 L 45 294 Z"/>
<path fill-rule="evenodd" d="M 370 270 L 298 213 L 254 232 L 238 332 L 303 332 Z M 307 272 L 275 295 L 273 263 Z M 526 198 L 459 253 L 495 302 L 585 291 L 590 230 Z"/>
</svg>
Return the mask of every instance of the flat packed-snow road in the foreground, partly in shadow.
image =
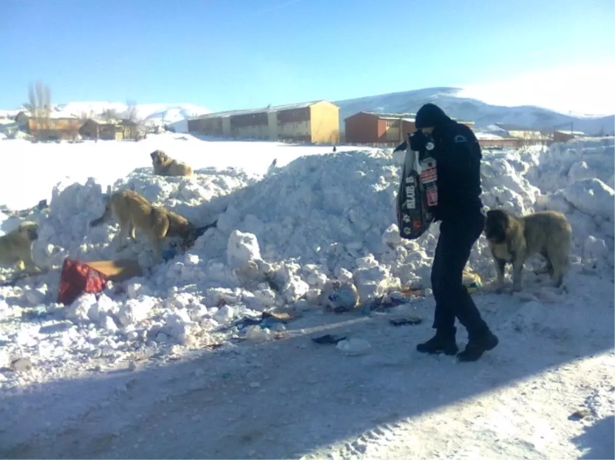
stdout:
<svg viewBox="0 0 615 460">
<path fill-rule="evenodd" d="M 387 318 L 311 316 L 293 323 L 303 333 L 274 343 L 49 383 L 38 394 L 4 397 L 0 446 L 42 420 L 47 436 L 0 454 L 566 460 L 581 458 L 578 443 L 591 448 L 582 458 L 607 460 L 615 448 L 613 437 L 602 435 L 615 429 L 615 336 L 608 321 L 615 309 L 592 299 L 613 292 L 613 284 L 578 281 L 565 298 L 542 302 L 477 297 L 501 345 L 475 364 L 417 354 L 429 321 L 392 327 Z M 418 313 L 429 319 L 430 309 Z M 578 327 L 569 329 L 574 319 Z M 311 326 L 325 321 L 335 333 L 370 341 L 372 353 L 346 357 L 309 341 L 304 333 L 313 335 Z M 82 405 L 71 407 L 77 394 Z M 590 417 L 569 420 L 579 408 Z M 600 419 L 595 427 L 593 417 Z"/>
</svg>

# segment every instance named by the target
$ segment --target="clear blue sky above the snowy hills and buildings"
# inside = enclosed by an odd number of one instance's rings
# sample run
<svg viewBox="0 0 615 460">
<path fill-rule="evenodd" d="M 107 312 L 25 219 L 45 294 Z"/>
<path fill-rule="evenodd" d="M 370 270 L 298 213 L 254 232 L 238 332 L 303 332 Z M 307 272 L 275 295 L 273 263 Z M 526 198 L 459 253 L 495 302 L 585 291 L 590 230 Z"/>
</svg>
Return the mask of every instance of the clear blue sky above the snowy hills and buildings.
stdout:
<svg viewBox="0 0 615 460">
<path fill-rule="evenodd" d="M 6 109 L 25 102 L 36 79 L 52 103 L 218 111 L 615 66 L 613 0 L 4 0 L 1 8 Z"/>
</svg>

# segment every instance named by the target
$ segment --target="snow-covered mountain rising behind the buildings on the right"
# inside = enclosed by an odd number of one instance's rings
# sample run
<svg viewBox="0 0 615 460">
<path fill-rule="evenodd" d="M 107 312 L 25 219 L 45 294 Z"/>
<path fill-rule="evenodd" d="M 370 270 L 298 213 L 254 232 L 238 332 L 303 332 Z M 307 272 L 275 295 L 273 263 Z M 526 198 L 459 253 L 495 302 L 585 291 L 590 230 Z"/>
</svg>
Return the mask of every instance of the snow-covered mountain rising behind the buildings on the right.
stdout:
<svg viewBox="0 0 615 460">
<path fill-rule="evenodd" d="M 476 123 L 486 129 L 494 123 L 509 123 L 524 128 L 539 130 L 569 129 L 587 134 L 615 133 L 615 115 L 593 117 L 590 115 L 561 114 L 537 106 L 496 106 L 483 101 L 463 97 L 461 88 L 424 88 L 421 90 L 367 96 L 357 99 L 335 101 L 340 107 L 339 120 L 344 129 L 344 118 L 361 111 L 416 113 L 423 104 L 431 102 L 442 107 L 451 117 Z"/>
</svg>

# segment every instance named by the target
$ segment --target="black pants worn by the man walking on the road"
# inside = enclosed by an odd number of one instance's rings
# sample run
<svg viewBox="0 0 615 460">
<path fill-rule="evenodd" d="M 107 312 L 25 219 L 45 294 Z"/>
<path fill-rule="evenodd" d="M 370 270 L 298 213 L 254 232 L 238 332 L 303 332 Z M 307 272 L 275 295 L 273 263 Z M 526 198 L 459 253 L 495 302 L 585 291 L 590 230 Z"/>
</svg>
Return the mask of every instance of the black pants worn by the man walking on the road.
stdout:
<svg viewBox="0 0 615 460">
<path fill-rule="evenodd" d="M 434 329 L 443 333 L 454 330 L 455 318 L 469 335 L 487 330 L 478 308 L 463 284 L 463 269 L 472 246 L 485 226 L 479 209 L 464 216 L 443 219 L 431 269 L 431 286 L 435 298 Z"/>
</svg>

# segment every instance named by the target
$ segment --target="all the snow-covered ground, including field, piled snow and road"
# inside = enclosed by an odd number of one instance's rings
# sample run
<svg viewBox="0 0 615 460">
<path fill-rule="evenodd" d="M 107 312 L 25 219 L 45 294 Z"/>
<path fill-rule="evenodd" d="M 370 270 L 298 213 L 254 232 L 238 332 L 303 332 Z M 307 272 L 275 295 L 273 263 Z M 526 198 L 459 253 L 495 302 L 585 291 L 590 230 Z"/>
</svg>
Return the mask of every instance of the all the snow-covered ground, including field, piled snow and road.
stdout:
<svg viewBox="0 0 615 460">
<path fill-rule="evenodd" d="M 197 175 L 152 176 L 154 149 Z M 432 334 L 429 289 L 371 312 L 319 305 L 331 279 L 354 283 L 364 305 L 429 283 L 437 225 L 400 241 L 399 158 L 355 149 L 180 134 L 2 141 L 14 169 L 2 171 L 0 202 L 50 199 L 29 217 L 41 224 L 33 252 L 42 266 L 116 257 L 115 227 L 87 227 L 110 184 L 218 227 L 158 267 L 137 236 L 119 255 L 148 276 L 70 306 L 54 303 L 57 269 L 0 287 L 0 458 L 612 458 L 615 139 L 485 152 L 485 205 L 565 211 L 573 268 L 564 290 L 527 270 L 522 294 L 474 294 L 501 341 L 472 364 L 416 353 Z M 469 266 L 493 279 L 484 238 Z M 237 324 L 274 308 L 301 316 Z M 389 323 L 408 314 L 424 322 Z M 347 356 L 310 340 L 323 333 L 371 347 Z M 31 368 L 9 368 L 17 357 Z"/>
</svg>

